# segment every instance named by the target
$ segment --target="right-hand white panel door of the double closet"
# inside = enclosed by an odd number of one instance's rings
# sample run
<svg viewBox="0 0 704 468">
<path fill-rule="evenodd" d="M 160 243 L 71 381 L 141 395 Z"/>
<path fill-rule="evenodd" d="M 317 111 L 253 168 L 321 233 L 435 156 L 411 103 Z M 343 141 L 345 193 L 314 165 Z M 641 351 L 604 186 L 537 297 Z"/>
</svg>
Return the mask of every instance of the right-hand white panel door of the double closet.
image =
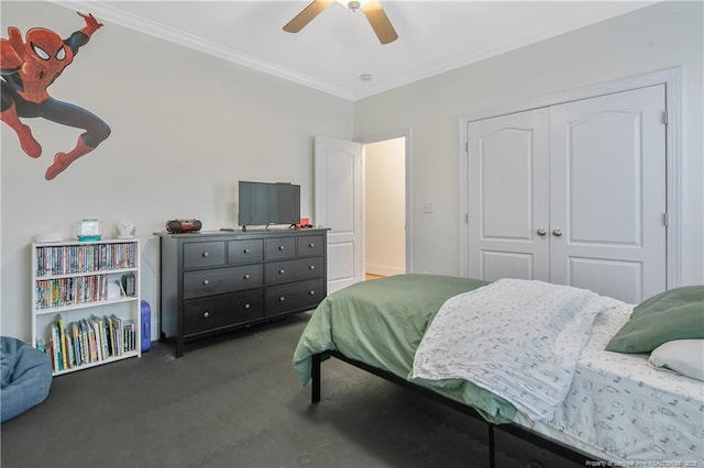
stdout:
<svg viewBox="0 0 704 468">
<path fill-rule="evenodd" d="M 663 85 L 550 108 L 552 282 L 630 303 L 666 289 L 664 110 Z"/>
</svg>

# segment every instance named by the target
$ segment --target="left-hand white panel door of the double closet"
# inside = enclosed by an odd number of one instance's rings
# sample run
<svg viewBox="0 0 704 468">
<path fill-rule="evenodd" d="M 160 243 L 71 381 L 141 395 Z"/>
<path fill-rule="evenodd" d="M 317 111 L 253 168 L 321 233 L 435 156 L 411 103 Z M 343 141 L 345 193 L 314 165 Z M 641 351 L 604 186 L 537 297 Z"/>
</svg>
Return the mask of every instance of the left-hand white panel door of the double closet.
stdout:
<svg viewBox="0 0 704 468">
<path fill-rule="evenodd" d="M 548 115 L 469 123 L 470 277 L 549 280 Z"/>
</svg>

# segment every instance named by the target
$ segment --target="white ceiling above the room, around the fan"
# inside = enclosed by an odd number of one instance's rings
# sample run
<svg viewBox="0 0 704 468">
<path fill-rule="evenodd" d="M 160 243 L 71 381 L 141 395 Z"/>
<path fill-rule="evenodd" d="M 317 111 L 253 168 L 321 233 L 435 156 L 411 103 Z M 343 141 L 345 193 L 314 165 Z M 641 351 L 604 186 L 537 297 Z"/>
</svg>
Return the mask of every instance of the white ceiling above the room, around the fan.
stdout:
<svg viewBox="0 0 704 468">
<path fill-rule="evenodd" d="M 302 1 L 56 1 L 350 100 L 365 98 L 651 4 L 652 1 L 393 1 L 382 45 L 361 11 L 331 4 L 297 34 Z M 363 74 L 372 75 L 369 81 Z"/>
</svg>

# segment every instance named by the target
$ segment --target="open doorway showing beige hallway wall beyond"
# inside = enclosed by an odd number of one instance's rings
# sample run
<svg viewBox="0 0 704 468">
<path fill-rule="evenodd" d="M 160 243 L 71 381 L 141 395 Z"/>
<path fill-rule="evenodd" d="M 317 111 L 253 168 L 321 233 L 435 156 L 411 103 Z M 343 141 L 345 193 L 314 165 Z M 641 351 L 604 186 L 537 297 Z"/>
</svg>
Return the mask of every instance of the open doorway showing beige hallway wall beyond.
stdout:
<svg viewBox="0 0 704 468">
<path fill-rule="evenodd" d="M 406 136 L 363 144 L 364 277 L 408 271 Z"/>
</svg>

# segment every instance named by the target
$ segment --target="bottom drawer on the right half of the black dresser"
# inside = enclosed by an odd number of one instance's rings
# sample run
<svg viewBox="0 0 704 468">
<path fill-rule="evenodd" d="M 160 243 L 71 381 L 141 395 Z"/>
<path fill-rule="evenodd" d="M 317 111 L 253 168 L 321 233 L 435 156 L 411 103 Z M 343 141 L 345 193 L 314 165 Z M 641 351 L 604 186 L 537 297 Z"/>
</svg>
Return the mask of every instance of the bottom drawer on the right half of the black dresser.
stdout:
<svg viewBox="0 0 704 468">
<path fill-rule="evenodd" d="M 265 315 L 314 309 L 326 297 L 323 278 L 272 286 L 264 292 Z"/>
</svg>

